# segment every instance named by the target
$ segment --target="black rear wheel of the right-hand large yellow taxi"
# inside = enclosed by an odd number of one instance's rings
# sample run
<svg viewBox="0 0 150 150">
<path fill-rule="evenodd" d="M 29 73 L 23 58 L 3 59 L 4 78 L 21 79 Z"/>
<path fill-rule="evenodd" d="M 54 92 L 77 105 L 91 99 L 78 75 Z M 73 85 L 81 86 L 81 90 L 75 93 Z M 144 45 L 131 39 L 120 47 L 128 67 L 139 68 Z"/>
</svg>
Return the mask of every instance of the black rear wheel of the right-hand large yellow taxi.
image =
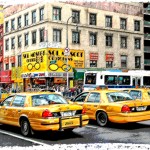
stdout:
<svg viewBox="0 0 150 150">
<path fill-rule="evenodd" d="M 98 125 L 101 127 L 107 126 L 109 122 L 107 114 L 103 111 L 97 113 L 96 120 Z"/>
</svg>

